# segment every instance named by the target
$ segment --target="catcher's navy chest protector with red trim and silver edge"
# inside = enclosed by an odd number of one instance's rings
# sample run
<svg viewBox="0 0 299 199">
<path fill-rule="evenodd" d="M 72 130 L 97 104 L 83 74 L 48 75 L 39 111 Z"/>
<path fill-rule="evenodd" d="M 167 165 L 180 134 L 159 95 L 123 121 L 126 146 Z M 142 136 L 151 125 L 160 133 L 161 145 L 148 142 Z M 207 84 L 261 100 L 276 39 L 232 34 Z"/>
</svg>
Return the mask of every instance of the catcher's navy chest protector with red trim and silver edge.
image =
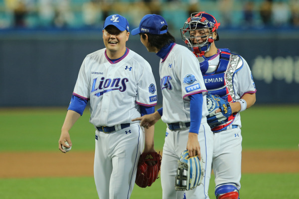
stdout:
<svg viewBox="0 0 299 199">
<path fill-rule="evenodd" d="M 204 79 L 205 86 L 209 93 L 212 95 L 218 95 L 222 99 L 229 102 L 236 101 L 236 95 L 234 92 L 234 75 L 243 67 L 242 58 L 230 52 L 229 49 L 220 49 L 220 58 L 218 65 L 209 66 L 208 61 L 200 63 L 200 70 Z M 215 68 L 213 70 L 213 67 Z M 211 72 L 211 69 L 213 72 Z M 207 73 L 208 72 L 208 73 Z M 236 114 L 232 114 L 227 120 L 225 125 L 220 125 L 212 128 L 212 131 L 225 130 L 235 119 Z"/>
</svg>

